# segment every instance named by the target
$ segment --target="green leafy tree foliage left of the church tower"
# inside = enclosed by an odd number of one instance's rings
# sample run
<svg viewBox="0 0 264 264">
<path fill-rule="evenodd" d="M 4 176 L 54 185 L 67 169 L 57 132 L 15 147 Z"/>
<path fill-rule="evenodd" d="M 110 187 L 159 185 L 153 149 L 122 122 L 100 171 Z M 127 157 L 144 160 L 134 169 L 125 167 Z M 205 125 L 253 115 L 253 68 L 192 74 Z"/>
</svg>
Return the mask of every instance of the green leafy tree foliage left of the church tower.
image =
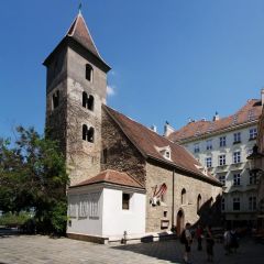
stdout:
<svg viewBox="0 0 264 264">
<path fill-rule="evenodd" d="M 65 160 L 56 142 L 33 128 L 16 128 L 14 143 L 0 139 L 0 210 L 34 209 L 40 227 L 62 232 L 66 221 Z"/>
</svg>

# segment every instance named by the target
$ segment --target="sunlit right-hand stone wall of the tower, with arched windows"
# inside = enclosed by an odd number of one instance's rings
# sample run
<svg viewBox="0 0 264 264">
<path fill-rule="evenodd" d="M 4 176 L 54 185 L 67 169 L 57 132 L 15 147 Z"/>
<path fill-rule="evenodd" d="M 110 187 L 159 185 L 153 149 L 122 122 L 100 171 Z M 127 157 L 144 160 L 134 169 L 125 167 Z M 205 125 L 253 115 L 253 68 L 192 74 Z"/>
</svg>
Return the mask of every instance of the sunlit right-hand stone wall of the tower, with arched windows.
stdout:
<svg viewBox="0 0 264 264">
<path fill-rule="evenodd" d="M 86 64 L 92 66 L 92 81 L 86 79 Z M 70 185 L 100 172 L 101 105 L 106 102 L 107 76 L 95 64 L 68 48 L 67 74 L 67 167 Z M 94 110 L 82 107 L 82 92 L 95 98 Z M 82 124 L 95 130 L 94 142 L 82 140 Z"/>
</svg>

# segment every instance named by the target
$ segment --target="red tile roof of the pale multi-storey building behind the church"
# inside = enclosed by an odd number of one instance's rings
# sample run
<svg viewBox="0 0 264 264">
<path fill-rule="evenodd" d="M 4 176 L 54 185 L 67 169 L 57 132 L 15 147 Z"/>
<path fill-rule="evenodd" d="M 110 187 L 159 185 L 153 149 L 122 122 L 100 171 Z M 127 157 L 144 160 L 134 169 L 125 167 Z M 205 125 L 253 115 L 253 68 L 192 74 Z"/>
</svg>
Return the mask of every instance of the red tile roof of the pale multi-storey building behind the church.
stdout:
<svg viewBox="0 0 264 264">
<path fill-rule="evenodd" d="M 189 122 L 182 129 L 168 135 L 168 139 L 174 142 L 180 142 L 183 140 L 193 140 L 197 136 L 219 132 L 224 129 L 235 128 L 248 122 L 257 121 L 261 112 L 261 100 L 252 99 L 232 116 L 219 119 L 217 121 L 200 120 L 196 122 Z"/>
</svg>

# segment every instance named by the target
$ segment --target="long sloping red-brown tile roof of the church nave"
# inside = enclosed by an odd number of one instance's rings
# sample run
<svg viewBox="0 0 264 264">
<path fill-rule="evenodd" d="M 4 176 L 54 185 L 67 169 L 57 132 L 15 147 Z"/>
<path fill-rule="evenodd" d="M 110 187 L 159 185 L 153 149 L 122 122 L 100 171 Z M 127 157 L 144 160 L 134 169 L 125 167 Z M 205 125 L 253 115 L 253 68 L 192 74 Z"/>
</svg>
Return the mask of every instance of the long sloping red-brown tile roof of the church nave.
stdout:
<svg viewBox="0 0 264 264">
<path fill-rule="evenodd" d="M 133 145 L 145 156 L 146 158 L 158 160 L 162 163 L 169 164 L 170 166 L 177 167 L 182 172 L 195 174 L 204 179 L 213 182 L 217 185 L 220 183 L 211 175 L 202 174 L 198 167 L 200 163 L 183 146 L 167 140 L 164 136 L 153 132 L 146 127 L 131 120 L 118 111 L 103 106 L 109 116 L 120 127 L 128 139 Z M 170 161 L 165 158 L 157 147 L 170 147 Z"/>
</svg>

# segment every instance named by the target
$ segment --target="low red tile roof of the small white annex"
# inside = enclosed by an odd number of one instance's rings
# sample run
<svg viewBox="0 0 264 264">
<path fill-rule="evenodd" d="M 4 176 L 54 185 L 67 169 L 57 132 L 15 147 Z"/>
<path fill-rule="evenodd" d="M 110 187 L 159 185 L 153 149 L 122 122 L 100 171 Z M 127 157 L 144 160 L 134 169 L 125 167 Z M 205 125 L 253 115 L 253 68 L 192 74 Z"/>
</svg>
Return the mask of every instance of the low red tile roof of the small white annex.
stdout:
<svg viewBox="0 0 264 264">
<path fill-rule="evenodd" d="M 109 183 L 109 184 L 116 184 L 116 185 L 122 185 L 122 186 L 143 189 L 143 186 L 132 176 L 128 175 L 127 173 L 120 173 L 113 169 L 103 170 L 98 175 L 96 175 L 95 177 L 86 179 L 77 185 L 70 186 L 69 188 L 98 184 L 98 183 Z"/>
</svg>

